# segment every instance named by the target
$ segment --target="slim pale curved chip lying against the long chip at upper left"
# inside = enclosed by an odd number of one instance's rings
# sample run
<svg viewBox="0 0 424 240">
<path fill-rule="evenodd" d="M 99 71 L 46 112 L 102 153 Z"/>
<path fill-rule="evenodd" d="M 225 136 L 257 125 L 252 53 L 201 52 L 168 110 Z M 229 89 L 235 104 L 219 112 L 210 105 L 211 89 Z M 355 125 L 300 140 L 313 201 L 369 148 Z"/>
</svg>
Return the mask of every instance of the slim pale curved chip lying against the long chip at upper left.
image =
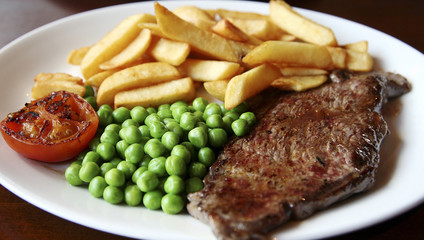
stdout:
<svg viewBox="0 0 424 240">
<path fill-rule="evenodd" d="M 143 29 L 140 34 L 120 53 L 110 60 L 100 64 L 100 69 L 110 70 L 129 64 L 139 59 L 150 45 L 152 33 L 148 29 Z"/>
</svg>

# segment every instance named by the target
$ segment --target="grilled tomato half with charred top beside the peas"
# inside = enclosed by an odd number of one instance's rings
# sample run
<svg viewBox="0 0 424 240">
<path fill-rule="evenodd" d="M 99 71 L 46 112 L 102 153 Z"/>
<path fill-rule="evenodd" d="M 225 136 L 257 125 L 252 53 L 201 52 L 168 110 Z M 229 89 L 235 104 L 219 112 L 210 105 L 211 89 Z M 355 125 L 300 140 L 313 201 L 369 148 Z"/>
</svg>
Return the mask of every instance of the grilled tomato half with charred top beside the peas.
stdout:
<svg viewBox="0 0 424 240">
<path fill-rule="evenodd" d="M 1 122 L 6 143 L 43 162 L 69 160 L 88 147 L 99 124 L 91 105 L 77 94 L 58 91 L 33 100 Z"/>
</svg>

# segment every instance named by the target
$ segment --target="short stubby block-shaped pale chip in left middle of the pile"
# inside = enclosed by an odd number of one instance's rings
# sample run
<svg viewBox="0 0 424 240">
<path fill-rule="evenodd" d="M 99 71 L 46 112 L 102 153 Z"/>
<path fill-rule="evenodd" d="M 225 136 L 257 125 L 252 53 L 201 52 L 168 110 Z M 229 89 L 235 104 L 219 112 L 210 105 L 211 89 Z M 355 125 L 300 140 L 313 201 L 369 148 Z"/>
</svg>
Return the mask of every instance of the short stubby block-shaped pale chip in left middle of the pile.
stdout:
<svg viewBox="0 0 424 240">
<path fill-rule="evenodd" d="M 190 53 L 190 45 L 153 36 L 148 53 L 158 61 L 178 66 L 186 60 Z"/>
</svg>

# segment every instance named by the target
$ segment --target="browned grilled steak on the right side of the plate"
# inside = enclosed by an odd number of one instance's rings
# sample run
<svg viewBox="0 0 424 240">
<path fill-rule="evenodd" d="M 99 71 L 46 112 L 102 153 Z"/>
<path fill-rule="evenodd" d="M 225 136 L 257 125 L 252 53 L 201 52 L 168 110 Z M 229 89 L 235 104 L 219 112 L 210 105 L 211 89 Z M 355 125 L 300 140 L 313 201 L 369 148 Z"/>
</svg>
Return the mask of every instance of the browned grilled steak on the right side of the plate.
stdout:
<svg viewBox="0 0 424 240">
<path fill-rule="evenodd" d="M 302 93 L 268 89 L 251 100 L 258 123 L 232 139 L 189 195 L 191 215 L 219 239 L 262 239 L 291 218 L 302 219 L 369 189 L 388 134 L 380 110 L 411 86 L 400 75 L 331 74 Z"/>
</svg>

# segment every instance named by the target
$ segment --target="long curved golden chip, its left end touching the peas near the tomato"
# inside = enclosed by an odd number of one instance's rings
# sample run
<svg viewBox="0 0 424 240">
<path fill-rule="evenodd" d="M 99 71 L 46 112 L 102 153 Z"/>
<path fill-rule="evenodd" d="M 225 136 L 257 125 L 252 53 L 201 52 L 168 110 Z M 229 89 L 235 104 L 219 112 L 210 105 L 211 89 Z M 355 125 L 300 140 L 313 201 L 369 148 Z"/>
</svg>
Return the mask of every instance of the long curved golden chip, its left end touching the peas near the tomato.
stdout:
<svg viewBox="0 0 424 240">
<path fill-rule="evenodd" d="M 180 78 L 178 70 L 163 62 L 144 63 L 126 68 L 106 78 L 97 93 L 97 104 L 113 106 L 117 93 L 129 89 L 147 87 Z"/>
</svg>

